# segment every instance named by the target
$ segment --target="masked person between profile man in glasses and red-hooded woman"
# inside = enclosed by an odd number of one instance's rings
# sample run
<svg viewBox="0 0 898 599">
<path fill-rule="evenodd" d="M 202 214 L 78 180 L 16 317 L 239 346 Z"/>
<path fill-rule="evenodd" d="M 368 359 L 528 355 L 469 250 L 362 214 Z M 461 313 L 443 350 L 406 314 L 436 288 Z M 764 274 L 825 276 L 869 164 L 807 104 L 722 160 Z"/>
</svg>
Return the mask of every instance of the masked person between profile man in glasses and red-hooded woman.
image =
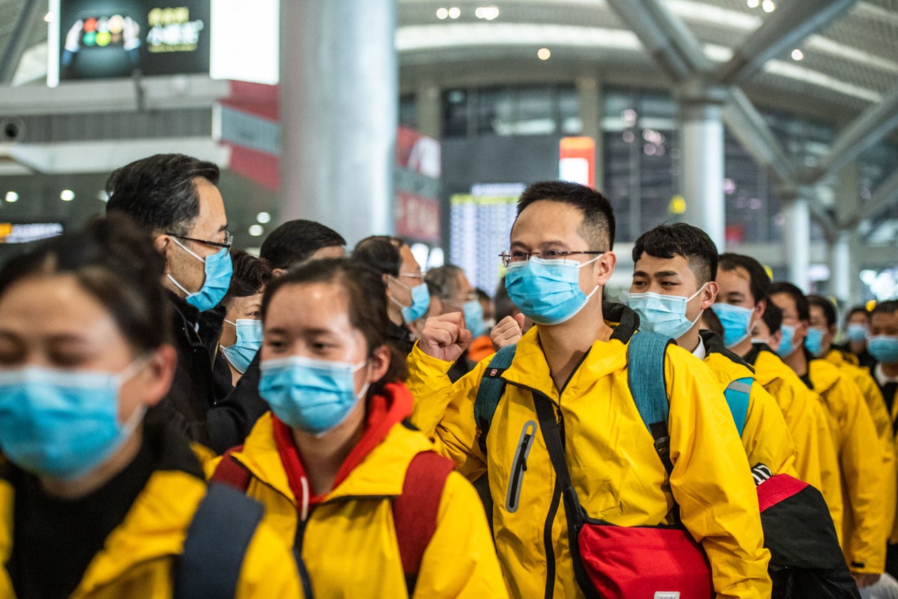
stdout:
<svg viewBox="0 0 898 599">
<path fill-rule="evenodd" d="M 222 305 L 225 325 L 219 348 L 230 366 L 231 377 L 223 381 L 235 386 L 262 346 L 262 292 L 271 280 L 269 264 L 243 250 L 232 249 L 233 275 Z"/>
</svg>

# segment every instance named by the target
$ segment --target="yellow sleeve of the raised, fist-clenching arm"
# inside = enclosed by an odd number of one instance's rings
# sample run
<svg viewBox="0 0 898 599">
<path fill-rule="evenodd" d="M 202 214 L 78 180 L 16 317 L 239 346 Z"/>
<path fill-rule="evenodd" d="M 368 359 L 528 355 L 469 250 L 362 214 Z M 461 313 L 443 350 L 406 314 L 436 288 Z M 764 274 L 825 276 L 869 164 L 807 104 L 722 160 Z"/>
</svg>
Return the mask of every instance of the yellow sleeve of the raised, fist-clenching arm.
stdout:
<svg viewBox="0 0 898 599">
<path fill-rule="evenodd" d="M 487 469 L 480 451 L 474 399 L 487 361 L 480 362 L 453 384 L 446 375 L 452 362 L 427 355 L 415 344 L 409 353 L 406 386 L 415 398 L 411 422 L 455 462 L 455 469 L 474 480 Z"/>
</svg>

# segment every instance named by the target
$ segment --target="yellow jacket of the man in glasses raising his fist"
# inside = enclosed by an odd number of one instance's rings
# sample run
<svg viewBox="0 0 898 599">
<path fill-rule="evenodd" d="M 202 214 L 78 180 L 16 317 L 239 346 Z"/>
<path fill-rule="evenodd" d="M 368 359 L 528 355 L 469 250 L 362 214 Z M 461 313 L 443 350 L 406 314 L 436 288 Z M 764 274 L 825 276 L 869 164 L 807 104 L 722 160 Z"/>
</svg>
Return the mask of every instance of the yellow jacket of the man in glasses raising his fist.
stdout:
<svg viewBox="0 0 898 599">
<path fill-rule="evenodd" d="M 620 326 L 619 329 L 623 328 Z M 542 353 L 540 326 L 518 342 L 489 434 L 480 451 L 474 398 L 489 360 L 453 385 L 452 366 L 409 354 L 414 422 L 432 434 L 468 478 L 486 472 L 499 561 L 515 597 L 581 597 L 568 547 L 560 489 L 537 424 L 530 389 L 560 408 L 568 469 L 586 512 L 624 526 L 668 523 L 674 496 L 682 523 L 708 554 L 718 597 L 768 597 L 768 550 L 748 460 L 708 368 L 672 345 L 665 359 L 670 398 L 667 473 L 627 383 L 627 343 L 616 330 L 596 341 L 559 393 Z M 529 454 L 527 453 L 529 451 Z M 524 459 L 520 455 L 524 455 Z M 673 489 L 673 496 L 672 496 Z"/>
</svg>

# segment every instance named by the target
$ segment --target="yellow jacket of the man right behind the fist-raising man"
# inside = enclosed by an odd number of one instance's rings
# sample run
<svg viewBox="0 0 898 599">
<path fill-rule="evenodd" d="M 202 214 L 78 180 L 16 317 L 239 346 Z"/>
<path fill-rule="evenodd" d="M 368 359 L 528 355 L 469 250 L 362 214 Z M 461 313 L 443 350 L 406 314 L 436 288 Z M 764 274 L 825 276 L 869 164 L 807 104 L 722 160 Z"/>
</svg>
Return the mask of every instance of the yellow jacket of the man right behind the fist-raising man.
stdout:
<svg viewBox="0 0 898 599">
<path fill-rule="evenodd" d="M 702 331 L 701 340 L 705 345 L 705 365 L 718 380 L 721 393 L 734 380 L 754 379 L 754 371 L 749 366 L 735 353 L 726 352 L 719 335 Z M 753 382 L 748 396 L 742 445 L 752 467 L 760 463 L 767 466 L 773 474 L 788 474 L 797 478 L 795 446 L 788 433 L 786 420 L 776 400 L 770 397 L 770 393 L 757 380 Z"/>
</svg>

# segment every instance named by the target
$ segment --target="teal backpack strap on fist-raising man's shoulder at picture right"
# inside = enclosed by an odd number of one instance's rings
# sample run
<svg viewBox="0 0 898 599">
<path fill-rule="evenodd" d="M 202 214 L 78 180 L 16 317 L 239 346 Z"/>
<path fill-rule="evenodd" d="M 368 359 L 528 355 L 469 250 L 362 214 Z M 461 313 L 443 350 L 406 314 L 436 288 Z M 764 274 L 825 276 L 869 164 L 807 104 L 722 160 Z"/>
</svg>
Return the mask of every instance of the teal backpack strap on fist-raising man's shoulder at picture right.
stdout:
<svg viewBox="0 0 898 599">
<path fill-rule="evenodd" d="M 642 422 L 655 439 L 655 451 L 667 474 L 674 469 L 670 457 L 670 434 L 667 431 L 667 401 L 665 386 L 665 353 L 670 337 L 639 331 L 629 338 L 627 345 L 627 384 Z"/>
</svg>

